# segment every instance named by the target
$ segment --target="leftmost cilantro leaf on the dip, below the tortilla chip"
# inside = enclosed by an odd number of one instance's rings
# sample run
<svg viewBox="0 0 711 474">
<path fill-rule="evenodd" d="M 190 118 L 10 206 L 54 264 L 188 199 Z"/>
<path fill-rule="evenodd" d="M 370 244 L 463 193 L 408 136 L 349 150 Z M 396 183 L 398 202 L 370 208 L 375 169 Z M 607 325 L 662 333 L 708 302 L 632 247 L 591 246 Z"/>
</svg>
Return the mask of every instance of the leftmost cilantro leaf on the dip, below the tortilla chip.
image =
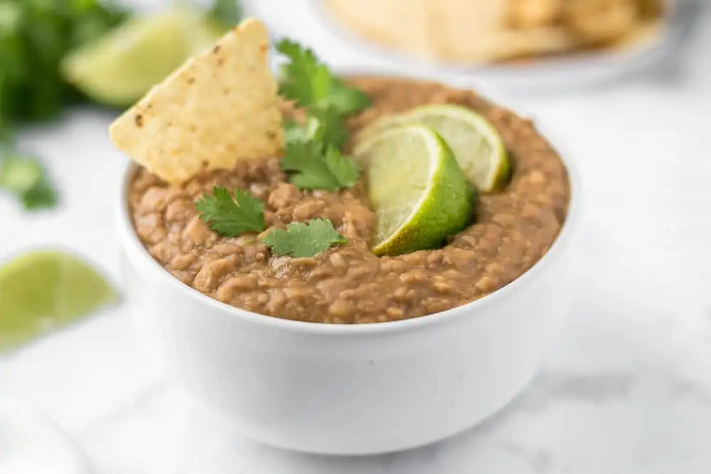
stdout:
<svg viewBox="0 0 711 474">
<path fill-rule="evenodd" d="M 264 230 L 264 205 L 243 189 L 235 188 L 232 199 L 228 189 L 215 186 L 213 195 L 203 194 L 195 207 L 201 213 L 201 220 L 225 237 Z"/>
</svg>

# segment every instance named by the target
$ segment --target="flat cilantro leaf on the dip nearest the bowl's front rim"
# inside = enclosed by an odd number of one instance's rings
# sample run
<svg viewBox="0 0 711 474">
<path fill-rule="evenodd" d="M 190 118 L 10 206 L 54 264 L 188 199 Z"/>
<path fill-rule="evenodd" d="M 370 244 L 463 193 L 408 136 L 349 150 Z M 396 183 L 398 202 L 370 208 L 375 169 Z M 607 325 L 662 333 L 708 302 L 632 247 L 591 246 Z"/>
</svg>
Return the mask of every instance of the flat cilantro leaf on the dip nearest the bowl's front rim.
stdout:
<svg viewBox="0 0 711 474">
<path fill-rule="evenodd" d="M 262 242 L 274 255 L 314 257 L 334 244 L 345 244 L 348 239 L 333 228 L 330 220 L 311 219 L 309 222 L 292 222 L 287 225 L 287 230 L 272 230 Z"/>
</svg>

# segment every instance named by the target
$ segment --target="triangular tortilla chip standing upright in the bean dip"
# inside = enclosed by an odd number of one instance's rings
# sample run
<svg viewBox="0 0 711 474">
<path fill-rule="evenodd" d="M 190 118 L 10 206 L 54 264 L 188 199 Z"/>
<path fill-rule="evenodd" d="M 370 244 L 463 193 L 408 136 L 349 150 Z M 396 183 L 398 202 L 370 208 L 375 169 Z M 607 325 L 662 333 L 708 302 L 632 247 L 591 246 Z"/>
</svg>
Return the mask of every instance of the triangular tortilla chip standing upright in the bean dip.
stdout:
<svg viewBox="0 0 711 474">
<path fill-rule="evenodd" d="M 110 127 L 117 149 L 169 183 L 277 156 L 282 113 L 269 35 L 249 19 L 188 60 Z"/>
</svg>

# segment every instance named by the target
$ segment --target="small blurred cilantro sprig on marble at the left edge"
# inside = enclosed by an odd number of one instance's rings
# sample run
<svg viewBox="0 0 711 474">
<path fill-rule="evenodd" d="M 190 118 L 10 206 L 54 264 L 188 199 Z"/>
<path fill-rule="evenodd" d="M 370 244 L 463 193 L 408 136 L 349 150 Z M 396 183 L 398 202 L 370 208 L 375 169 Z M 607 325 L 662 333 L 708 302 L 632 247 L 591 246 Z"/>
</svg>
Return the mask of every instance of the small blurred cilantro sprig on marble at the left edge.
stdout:
<svg viewBox="0 0 711 474">
<path fill-rule="evenodd" d="M 8 154 L 0 160 L 0 189 L 16 195 L 25 209 L 53 208 L 57 193 L 36 159 Z"/>
</svg>

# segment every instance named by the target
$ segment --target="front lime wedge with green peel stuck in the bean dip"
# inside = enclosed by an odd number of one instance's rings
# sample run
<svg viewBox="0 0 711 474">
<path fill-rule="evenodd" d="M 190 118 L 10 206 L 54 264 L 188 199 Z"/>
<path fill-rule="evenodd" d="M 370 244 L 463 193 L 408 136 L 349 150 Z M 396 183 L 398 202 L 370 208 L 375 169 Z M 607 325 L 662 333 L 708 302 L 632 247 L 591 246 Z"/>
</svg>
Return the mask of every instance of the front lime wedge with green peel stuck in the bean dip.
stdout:
<svg viewBox="0 0 711 474">
<path fill-rule="evenodd" d="M 466 226 L 473 190 L 449 146 L 422 125 L 390 127 L 355 147 L 378 220 L 373 253 L 437 247 Z"/>
</svg>

